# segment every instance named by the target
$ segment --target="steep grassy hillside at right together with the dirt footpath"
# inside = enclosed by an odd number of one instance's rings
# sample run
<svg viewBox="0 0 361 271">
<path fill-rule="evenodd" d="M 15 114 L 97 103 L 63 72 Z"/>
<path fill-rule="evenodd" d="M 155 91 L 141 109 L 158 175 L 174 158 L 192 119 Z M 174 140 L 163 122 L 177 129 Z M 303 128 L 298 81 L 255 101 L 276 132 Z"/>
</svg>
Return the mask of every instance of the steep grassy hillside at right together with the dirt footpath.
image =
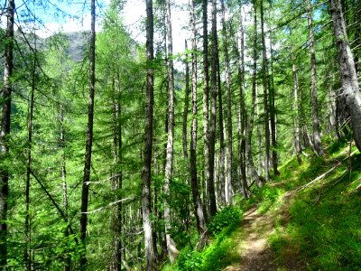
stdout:
<svg viewBox="0 0 361 271">
<path fill-rule="evenodd" d="M 281 176 L 255 192 L 224 270 L 360 270 L 361 155 L 346 141 L 326 157 L 283 164 Z M 249 203 L 249 202 L 248 202 Z"/>
</svg>

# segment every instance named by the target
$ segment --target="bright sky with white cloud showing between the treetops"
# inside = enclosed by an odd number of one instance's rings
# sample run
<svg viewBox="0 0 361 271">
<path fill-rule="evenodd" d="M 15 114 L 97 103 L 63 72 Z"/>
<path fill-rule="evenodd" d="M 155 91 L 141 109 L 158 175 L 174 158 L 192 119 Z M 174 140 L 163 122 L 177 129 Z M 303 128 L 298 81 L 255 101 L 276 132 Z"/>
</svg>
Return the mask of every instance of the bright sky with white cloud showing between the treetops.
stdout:
<svg viewBox="0 0 361 271">
<path fill-rule="evenodd" d="M 35 0 L 36 1 L 36 0 Z M 38 0 L 39 1 L 39 0 Z M 54 3 L 56 1 L 52 0 Z M 43 38 L 52 33 L 77 32 L 90 29 L 89 2 L 84 5 L 83 0 L 69 1 L 63 0 L 56 3 L 59 11 L 55 13 L 54 5 L 49 6 L 49 11 L 43 8 L 35 8 L 33 1 L 27 1 L 28 8 L 35 10 L 35 15 L 42 18 L 42 25 L 38 26 L 37 34 Z M 101 30 L 101 15 L 106 11 L 106 5 L 110 0 L 97 0 L 97 32 Z M 189 13 L 187 10 L 181 10 L 180 6 L 188 3 L 188 0 L 177 0 L 177 6 L 171 10 L 172 33 L 173 33 L 173 53 L 184 51 L 184 40 L 188 38 L 189 33 L 182 28 L 189 22 Z M 23 1 L 16 1 L 19 10 L 24 8 Z M 51 11 L 50 11 L 51 10 Z M 145 17 L 144 0 L 127 0 L 123 12 L 125 27 L 137 42 L 145 42 L 145 33 L 143 28 L 143 18 Z M 2 20 L 3 21 L 3 20 Z"/>
</svg>

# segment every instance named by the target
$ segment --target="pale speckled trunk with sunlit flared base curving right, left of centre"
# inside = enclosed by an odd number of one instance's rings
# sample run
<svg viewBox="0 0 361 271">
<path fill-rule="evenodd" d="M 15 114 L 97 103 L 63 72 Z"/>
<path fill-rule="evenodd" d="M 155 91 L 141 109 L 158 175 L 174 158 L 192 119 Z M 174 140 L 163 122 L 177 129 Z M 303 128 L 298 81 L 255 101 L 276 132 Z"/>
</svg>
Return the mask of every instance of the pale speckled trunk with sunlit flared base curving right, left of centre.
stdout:
<svg viewBox="0 0 361 271">
<path fill-rule="evenodd" d="M 168 64 L 168 140 L 166 149 L 165 162 L 165 182 L 164 182 L 164 223 L 165 223 L 165 240 L 167 242 L 168 256 L 171 264 L 180 254 L 171 238 L 171 177 L 173 174 L 173 142 L 174 142 L 174 74 L 173 74 L 173 43 L 171 37 L 171 1 L 166 1 L 167 5 L 167 64 Z"/>
</svg>

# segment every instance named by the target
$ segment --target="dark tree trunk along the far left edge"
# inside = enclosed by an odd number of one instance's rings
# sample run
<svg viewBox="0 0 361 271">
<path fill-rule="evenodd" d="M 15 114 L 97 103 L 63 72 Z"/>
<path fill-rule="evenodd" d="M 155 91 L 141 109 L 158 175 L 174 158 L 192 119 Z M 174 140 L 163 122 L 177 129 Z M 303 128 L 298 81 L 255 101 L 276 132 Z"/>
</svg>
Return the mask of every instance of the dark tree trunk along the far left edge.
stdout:
<svg viewBox="0 0 361 271">
<path fill-rule="evenodd" d="M 7 198 L 9 196 L 8 163 L 4 163 L 9 156 L 9 135 L 11 119 L 11 94 L 13 75 L 13 45 L 14 45 L 14 0 L 7 4 L 7 26 L 5 33 L 5 67 L 4 89 L 2 98 L 1 127 L 0 127 L 0 266 L 7 263 Z"/>
</svg>

